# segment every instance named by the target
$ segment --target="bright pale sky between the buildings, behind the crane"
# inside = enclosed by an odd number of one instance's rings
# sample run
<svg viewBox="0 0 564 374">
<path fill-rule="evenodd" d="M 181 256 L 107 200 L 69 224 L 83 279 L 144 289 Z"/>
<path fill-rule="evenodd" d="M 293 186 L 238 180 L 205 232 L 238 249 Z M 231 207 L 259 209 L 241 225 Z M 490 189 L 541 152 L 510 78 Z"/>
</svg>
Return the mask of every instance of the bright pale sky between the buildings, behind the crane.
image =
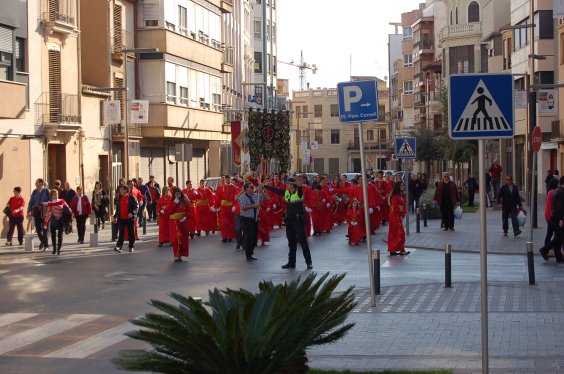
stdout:
<svg viewBox="0 0 564 374">
<path fill-rule="evenodd" d="M 284 62 L 304 61 L 317 66 L 306 69 L 310 88 L 335 88 L 350 74 L 388 75 L 390 22 L 401 13 L 417 9 L 425 0 L 278 0 L 278 78 L 289 79 L 290 92 L 299 90 L 299 68 Z M 401 28 L 399 29 L 401 33 Z M 352 64 L 351 64 L 352 61 Z M 307 88 L 307 87 L 306 87 Z"/>
</svg>

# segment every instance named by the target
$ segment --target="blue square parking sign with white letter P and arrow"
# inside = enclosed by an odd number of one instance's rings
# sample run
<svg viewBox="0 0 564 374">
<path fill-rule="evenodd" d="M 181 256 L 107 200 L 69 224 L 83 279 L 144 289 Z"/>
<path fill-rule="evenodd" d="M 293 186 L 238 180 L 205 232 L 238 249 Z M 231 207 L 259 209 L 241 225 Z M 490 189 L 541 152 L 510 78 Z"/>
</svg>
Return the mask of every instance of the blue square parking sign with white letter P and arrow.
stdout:
<svg viewBox="0 0 564 374">
<path fill-rule="evenodd" d="M 362 122 L 378 119 L 378 83 L 376 80 L 337 83 L 339 120 Z"/>
</svg>

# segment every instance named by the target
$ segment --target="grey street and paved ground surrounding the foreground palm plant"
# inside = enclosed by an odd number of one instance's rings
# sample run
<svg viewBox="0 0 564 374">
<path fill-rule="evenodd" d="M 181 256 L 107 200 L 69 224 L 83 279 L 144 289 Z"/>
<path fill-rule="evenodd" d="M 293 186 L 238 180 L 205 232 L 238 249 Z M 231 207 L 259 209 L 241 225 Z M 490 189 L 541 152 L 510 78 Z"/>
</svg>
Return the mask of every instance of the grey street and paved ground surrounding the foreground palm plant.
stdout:
<svg viewBox="0 0 564 374">
<path fill-rule="evenodd" d="M 451 238 L 479 236 L 468 214 Z M 426 232 L 436 237 L 438 221 Z M 466 232 L 465 227 L 470 228 Z M 409 256 L 387 256 L 387 228 L 373 237 L 382 251 L 382 294 L 370 305 L 366 246 L 350 247 L 346 226 L 310 238 L 313 271 L 347 273 L 340 288 L 355 285 L 357 325 L 340 342 L 312 349 L 312 367 L 364 369 L 454 368 L 478 372 L 480 361 L 479 255 L 453 253 L 451 289 L 444 288 L 442 251 L 410 249 Z M 535 230 L 537 236 L 543 228 Z M 126 338 L 127 321 L 152 311 L 151 298 L 171 301 L 167 293 L 207 299 L 218 288 L 256 290 L 262 279 L 284 282 L 308 274 L 298 250 L 296 270 L 282 270 L 287 259 L 283 229 L 275 229 L 270 246 L 259 247 L 256 263 L 247 263 L 234 243 L 210 235 L 190 241 L 188 261 L 174 263 L 172 249 L 157 248 L 151 224 L 135 253 L 116 254 L 101 232 L 99 248 L 68 245 L 60 257 L 46 252 L 0 256 L 0 366 L 2 373 L 109 373 L 109 360 L 121 349 L 145 348 Z M 75 236 L 65 237 L 67 242 Z M 505 238 L 522 246 L 525 238 Z M 82 249 L 78 249 L 78 248 Z M 454 245 L 456 248 L 456 245 Z M 564 267 L 535 255 L 536 286 L 529 286 L 526 257 L 490 254 L 490 367 L 499 372 L 564 371 Z M 168 299 L 168 300 L 167 300 Z M 495 371 L 493 371 L 495 372 Z"/>
</svg>

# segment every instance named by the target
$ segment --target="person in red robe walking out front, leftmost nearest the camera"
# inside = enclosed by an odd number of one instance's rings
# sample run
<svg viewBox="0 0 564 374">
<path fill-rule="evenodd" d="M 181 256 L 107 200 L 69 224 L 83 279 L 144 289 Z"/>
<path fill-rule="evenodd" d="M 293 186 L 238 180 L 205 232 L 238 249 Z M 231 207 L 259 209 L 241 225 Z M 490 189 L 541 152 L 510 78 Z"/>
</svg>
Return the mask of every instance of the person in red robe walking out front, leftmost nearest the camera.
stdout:
<svg viewBox="0 0 564 374">
<path fill-rule="evenodd" d="M 167 206 L 168 232 L 172 243 L 174 262 L 182 262 L 182 257 L 189 255 L 188 221 L 193 217 L 190 216 L 190 200 L 182 193 L 180 188 L 175 188 L 173 191 Z"/>
</svg>

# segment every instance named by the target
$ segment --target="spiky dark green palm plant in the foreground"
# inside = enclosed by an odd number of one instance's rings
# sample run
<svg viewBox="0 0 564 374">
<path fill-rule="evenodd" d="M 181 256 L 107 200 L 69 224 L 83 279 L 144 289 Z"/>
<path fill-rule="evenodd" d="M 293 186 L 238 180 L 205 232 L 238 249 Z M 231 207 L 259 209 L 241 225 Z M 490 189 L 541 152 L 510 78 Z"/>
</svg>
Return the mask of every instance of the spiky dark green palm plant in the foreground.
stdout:
<svg viewBox="0 0 564 374">
<path fill-rule="evenodd" d="M 123 351 L 114 363 L 158 373 L 305 373 L 308 347 L 339 340 L 354 326 L 345 323 L 356 305 L 353 287 L 334 295 L 343 278 L 263 281 L 258 293 L 214 289 L 204 305 L 177 293 L 170 294 L 177 306 L 151 300 L 165 314 L 145 314 L 132 321 L 143 329 L 126 335 L 153 349 Z"/>
</svg>

